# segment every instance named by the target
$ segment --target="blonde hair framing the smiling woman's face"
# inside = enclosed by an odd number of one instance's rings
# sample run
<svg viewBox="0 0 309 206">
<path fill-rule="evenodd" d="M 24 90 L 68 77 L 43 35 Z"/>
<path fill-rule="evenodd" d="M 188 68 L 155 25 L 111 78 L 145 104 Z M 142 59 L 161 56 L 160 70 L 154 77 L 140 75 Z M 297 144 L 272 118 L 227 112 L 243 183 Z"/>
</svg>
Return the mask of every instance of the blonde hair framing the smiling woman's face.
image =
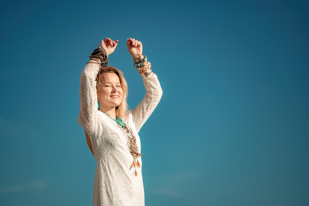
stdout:
<svg viewBox="0 0 309 206">
<path fill-rule="evenodd" d="M 97 75 L 96 81 L 102 83 L 102 79 L 103 79 L 102 76 L 106 73 L 115 73 L 119 77 L 120 85 L 123 91 L 123 97 L 122 97 L 122 101 L 120 105 L 116 107 L 116 116 L 121 119 L 126 118 L 129 113 L 128 104 L 127 104 L 128 84 L 125 81 L 122 72 L 116 69 L 115 67 L 111 67 L 111 66 L 101 67 Z"/>
</svg>

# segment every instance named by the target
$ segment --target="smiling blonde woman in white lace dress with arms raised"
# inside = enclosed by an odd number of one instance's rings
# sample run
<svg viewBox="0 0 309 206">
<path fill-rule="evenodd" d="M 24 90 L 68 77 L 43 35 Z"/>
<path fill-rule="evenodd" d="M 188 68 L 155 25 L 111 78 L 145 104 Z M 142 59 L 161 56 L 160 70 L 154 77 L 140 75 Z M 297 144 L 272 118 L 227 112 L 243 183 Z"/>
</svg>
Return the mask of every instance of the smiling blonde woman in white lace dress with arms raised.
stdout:
<svg viewBox="0 0 309 206">
<path fill-rule="evenodd" d="M 134 67 L 146 88 L 144 99 L 128 110 L 127 83 L 120 70 L 107 66 L 117 43 L 106 38 L 89 56 L 80 77 L 78 123 L 97 161 L 93 205 L 145 206 L 138 132 L 160 101 L 162 90 L 143 55 L 141 41 L 127 39 Z"/>
</svg>

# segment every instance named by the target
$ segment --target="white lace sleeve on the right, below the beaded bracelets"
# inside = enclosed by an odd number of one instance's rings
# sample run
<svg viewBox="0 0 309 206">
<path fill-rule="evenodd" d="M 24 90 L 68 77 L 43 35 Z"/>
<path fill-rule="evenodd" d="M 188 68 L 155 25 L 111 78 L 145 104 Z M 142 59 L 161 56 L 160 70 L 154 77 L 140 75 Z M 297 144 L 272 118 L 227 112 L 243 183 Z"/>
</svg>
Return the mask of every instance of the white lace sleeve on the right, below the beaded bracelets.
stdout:
<svg viewBox="0 0 309 206">
<path fill-rule="evenodd" d="M 153 113 L 163 94 L 160 82 L 155 74 L 143 78 L 146 94 L 143 100 L 132 110 L 132 118 L 137 132 Z"/>
</svg>

